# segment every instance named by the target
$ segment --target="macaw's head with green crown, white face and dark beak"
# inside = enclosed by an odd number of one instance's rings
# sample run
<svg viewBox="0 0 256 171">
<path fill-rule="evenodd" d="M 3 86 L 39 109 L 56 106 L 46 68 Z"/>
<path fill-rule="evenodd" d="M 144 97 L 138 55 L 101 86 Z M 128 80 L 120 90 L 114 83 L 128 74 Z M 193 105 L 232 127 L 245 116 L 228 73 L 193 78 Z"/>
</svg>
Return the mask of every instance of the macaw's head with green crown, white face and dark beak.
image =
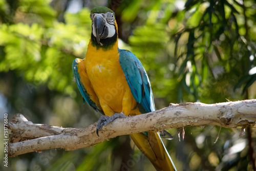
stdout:
<svg viewBox="0 0 256 171">
<path fill-rule="evenodd" d="M 91 11 L 93 44 L 109 46 L 117 40 L 115 13 L 107 7 L 94 7 Z"/>
</svg>

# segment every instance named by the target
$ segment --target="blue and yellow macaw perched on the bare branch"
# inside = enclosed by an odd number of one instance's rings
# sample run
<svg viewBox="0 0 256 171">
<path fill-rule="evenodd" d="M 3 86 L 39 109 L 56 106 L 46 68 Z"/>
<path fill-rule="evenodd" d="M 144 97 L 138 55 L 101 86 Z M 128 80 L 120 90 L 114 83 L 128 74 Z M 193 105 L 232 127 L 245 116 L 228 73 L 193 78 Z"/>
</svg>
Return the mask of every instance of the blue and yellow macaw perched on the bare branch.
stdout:
<svg viewBox="0 0 256 171">
<path fill-rule="evenodd" d="M 130 51 L 118 48 L 115 14 L 106 7 L 91 11 L 92 34 L 86 57 L 73 61 L 73 74 L 83 100 L 102 116 L 98 131 L 117 117 L 155 111 L 145 69 Z M 157 132 L 130 135 L 157 170 L 176 170 Z"/>
</svg>

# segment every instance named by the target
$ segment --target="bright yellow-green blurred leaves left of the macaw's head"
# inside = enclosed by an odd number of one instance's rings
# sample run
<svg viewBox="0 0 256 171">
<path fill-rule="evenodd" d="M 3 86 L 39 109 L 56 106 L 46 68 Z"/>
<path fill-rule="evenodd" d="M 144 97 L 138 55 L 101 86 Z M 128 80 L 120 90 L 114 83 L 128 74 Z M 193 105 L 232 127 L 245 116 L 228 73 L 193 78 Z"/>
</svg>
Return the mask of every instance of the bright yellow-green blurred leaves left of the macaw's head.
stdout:
<svg viewBox="0 0 256 171">
<path fill-rule="evenodd" d="M 20 8 L 24 7 L 23 11 L 26 11 L 36 2 L 23 3 Z M 74 96 L 75 90 L 70 86 L 71 64 L 74 58 L 83 58 L 86 53 L 91 33 L 89 16 L 88 9 L 77 14 L 67 13 L 67 24 L 55 22 L 50 28 L 37 23 L 3 24 L 0 27 L 0 46 L 4 46 L 5 56 L 0 60 L 0 71 L 17 70 L 33 85 L 47 84 L 50 90 Z"/>
</svg>

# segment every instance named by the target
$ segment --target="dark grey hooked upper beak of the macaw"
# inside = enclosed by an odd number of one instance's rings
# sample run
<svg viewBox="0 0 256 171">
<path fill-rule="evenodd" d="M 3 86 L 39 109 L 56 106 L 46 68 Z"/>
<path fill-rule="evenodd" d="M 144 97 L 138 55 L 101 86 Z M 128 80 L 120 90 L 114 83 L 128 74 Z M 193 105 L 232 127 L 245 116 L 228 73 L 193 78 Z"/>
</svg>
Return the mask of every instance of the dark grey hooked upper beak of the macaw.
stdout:
<svg viewBox="0 0 256 171">
<path fill-rule="evenodd" d="M 106 23 L 105 20 L 100 15 L 95 16 L 94 27 L 95 27 L 96 39 L 100 46 L 102 46 L 100 39 L 104 39 L 109 35 L 109 30 L 108 30 L 108 27 L 105 26 L 105 23 Z"/>
</svg>

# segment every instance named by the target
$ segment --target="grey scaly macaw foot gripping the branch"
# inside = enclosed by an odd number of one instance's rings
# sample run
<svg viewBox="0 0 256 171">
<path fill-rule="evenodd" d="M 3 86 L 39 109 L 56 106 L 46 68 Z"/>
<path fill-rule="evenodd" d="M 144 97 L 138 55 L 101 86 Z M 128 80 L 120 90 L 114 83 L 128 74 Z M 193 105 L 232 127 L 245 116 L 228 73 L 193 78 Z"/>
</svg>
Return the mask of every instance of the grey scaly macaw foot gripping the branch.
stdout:
<svg viewBox="0 0 256 171">
<path fill-rule="evenodd" d="M 116 118 L 125 118 L 127 117 L 126 115 L 123 114 L 123 112 L 121 113 L 115 113 L 114 115 L 112 116 L 101 116 L 98 120 L 98 124 L 97 124 L 97 129 L 96 129 L 96 134 L 97 136 L 99 137 L 99 130 L 102 131 L 102 127 L 104 125 L 107 125 L 109 124 L 110 122 L 112 122 L 113 120 L 115 120 Z"/>
</svg>

